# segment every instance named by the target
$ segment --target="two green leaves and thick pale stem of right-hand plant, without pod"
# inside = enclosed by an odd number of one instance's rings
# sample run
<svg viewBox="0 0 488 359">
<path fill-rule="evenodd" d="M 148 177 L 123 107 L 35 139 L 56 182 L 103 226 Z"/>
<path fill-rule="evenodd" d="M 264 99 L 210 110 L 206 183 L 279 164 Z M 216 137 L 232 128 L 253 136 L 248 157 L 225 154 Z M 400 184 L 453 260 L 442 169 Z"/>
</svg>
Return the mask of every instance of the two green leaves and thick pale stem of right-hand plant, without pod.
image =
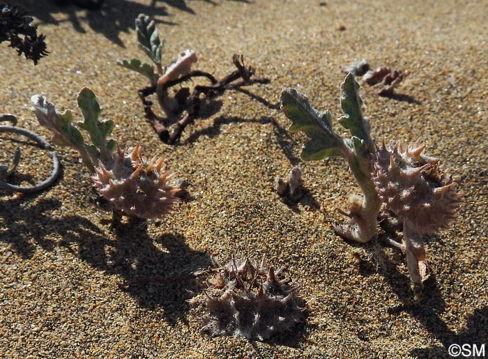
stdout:
<svg viewBox="0 0 488 359">
<path fill-rule="evenodd" d="M 291 131 L 301 130 L 310 140 L 303 146 L 303 160 L 318 160 L 330 155 L 343 155 L 349 169 L 363 191 L 363 201 L 354 200 L 346 211 L 346 224 L 334 225 L 335 231 L 352 240 L 366 243 L 376 234 L 381 199 L 372 180 L 372 157 L 376 148 L 369 135 L 369 123 L 363 117 L 363 102 L 358 94 L 359 84 L 349 73 L 341 84 L 340 102 L 344 116 L 340 124 L 351 132 L 350 139 L 342 139 L 333 132 L 330 112 L 320 112 L 310 106 L 307 98 L 293 89 L 281 95 L 282 111 L 291 120 Z"/>
</svg>

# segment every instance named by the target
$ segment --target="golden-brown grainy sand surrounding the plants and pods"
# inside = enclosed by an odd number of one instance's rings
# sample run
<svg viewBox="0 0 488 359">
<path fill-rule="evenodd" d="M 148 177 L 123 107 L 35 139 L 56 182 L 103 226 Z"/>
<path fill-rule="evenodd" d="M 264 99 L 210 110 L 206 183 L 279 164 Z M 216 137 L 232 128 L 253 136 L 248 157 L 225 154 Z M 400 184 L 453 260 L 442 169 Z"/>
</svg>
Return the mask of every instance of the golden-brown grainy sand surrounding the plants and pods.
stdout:
<svg viewBox="0 0 488 359">
<path fill-rule="evenodd" d="M 80 120 L 76 96 L 89 86 L 119 144 L 140 140 L 146 157 L 165 154 L 189 197 L 160 220 L 114 227 L 79 156 L 64 148 L 52 188 L 1 192 L 0 358 L 449 358 L 450 344 L 485 344 L 488 356 L 487 1 L 106 0 L 93 12 L 13 3 L 36 17 L 51 53 L 33 66 L 0 45 L 0 113 L 49 139 L 30 97 Z M 195 49 L 196 68 L 223 77 L 232 54 L 244 54 L 271 83 L 247 88 L 252 96 L 224 93 L 176 146 L 163 144 L 137 97 L 146 79 L 116 66 L 146 61 L 133 29 L 139 13 L 157 20 L 166 65 Z M 394 98 L 361 86 L 376 143 L 422 139 L 464 192 L 450 229 L 426 236 L 432 275 L 418 303 L 402 252 L 333 232 L 344 220 L 334 208 L 356 183 L 340 158 L 301 161 L 305 135 L 291 134 L 277 109 L 291 86 L 336 119 L 343 69 L 363 58 L 409 72 Z M 16 146 L 7 137 L 1 162 Z M 45 178 L 49 153 L 22 148 L 17 181 Z M 287 206 L 273 180 L 294 165 L 308 192 Z M 268 342 L 209 337 L 199 330 L 204 308 L 185 302 L 195 284 L 158 281 L 233 253 L 287 267 L 307 303 L 305 326 Z"/>
</svg>

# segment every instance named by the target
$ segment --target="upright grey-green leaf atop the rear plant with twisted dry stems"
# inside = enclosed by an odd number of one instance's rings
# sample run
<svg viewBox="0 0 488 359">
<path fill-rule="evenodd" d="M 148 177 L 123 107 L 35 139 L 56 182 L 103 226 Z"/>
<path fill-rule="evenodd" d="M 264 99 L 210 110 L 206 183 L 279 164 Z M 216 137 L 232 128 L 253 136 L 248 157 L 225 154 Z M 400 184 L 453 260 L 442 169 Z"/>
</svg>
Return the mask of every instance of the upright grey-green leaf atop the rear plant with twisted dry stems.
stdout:
<svg viewBox="0 0 488 359">
<path fill-rule="evenodd" d="M 135 20 L 135 29 L 139 46 L 156 65 L 161 66 L 163 43 L 159 38 L 154 21 L 147 15 L 139 14 Z"/>
</svg>

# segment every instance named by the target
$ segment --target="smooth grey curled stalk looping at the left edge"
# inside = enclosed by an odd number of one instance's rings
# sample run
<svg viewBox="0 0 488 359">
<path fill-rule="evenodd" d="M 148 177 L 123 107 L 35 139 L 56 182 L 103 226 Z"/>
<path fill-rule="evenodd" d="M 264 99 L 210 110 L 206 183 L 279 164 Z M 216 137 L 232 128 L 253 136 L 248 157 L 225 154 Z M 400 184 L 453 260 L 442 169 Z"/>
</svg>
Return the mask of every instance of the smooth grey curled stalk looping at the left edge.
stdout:
<svg viewBox="0 0 488 359">
<path fill-rule="evenodd" d="M 61 174 L 61 166 L 59 165 L 58 153 L 52 149 L 51 145 L 48 144 L 45 141 L 45 139 L 43 139 L 43 137 L 40 137 L 35 132 L 27 130 L 26 128 L 17 127 L 16 126 L 17 118 L 15 116 L 12 115 L 0 116 L 0 122 L 3 121 L 10 121 L 12 125 L 0 125 L 0 132 L 15 133 L 17 135 L 22 135 L 33 140 L 40 148 L 49 151 L 49 153 L 52 155 L 53 167 L 49 177 L 40 183 L 36 183 L 35 185 L 19 186 L 4 181 L 6 180 L 6 178 L 8 178 L 8 176 L 11 176 L 12 174 L 15 173 L 15 169 L 17 169 L 17 165 L 20 162 L 21 153 L 20 153 L 20 149 L 17 147 L 15 149 L 15 154 L 12 160 L 12 164 L 0 165 L 0 189 L 6 190 L 8 192 L 20 192 L 20 193 L 34 193 L 34 192 L 40 192 L 42 190 L 45 190 L 50 185 L 52 185 L 56 181 L 56 178 L 58 178 L 59 175 Z"/>
</svg>

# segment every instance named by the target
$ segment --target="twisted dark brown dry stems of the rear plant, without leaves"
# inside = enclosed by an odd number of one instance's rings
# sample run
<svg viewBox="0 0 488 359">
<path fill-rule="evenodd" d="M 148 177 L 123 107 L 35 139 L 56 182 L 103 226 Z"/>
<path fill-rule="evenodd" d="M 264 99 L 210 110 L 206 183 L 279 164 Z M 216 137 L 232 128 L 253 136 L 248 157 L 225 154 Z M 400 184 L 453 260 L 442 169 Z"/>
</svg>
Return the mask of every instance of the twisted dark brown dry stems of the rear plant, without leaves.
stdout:
<svg viewBox="0 0 488 359">
<path fill-rule="evenodd" d="M 147 121 L 151 123 L 153 129 L 158 134 L 162 142 L 167 144 L 175 144 L 178 139 L 180 139 L 183 130 L 187 125 L 193 123 L 195 119 L 198 119 L 201 109 L 201 95 L 203 94 L 206 99 L 212 99 L 217 96 L 222 96 L 226 90 L 237 90 L 242 86 L 249 86 L 252 84 L 268 84 L 269 79 L 264 77 L 257 77 L 252 79 L 255 69 L 251 66 L 245 67 L 243 56 L 234 54 L 232 56 L 232 61 L 236 66 L 237 70 L 234 70 L 226 77 L 218 80 L 215 79 L 213 75 L 208 72 L 194 70 L 188 72 L 186 75 L 177 77 L 176 79 L 170 79 L 164 82 L 161 86 L 153 85 L 148 86 L 144 89 L 138 91 L 139 98 L 142 100 L 142 105 L 144 106 L 144 116 Z M 178 112 L 185 111 L 185 115 L 181 118 L 175 125 L 173 133 L 169 134 L 169 129 L 167 128 L 166 120 L 158 115 L 156 115 L 152 110 L 153 102 L 148 100 L 147 97 L 151 96 L 153 93 L 158 93 L 158 97 L 162 94 L 163 99 L 168 95 L 168 89 L 178 84 L 183 84 L 191 79 L 197 77 L 204 77 L 210 82 L 208 85 L 197 85 L 190 93 L 189 89 L 180 89 L 174 100 L 178 102 L 177 108 Z M 162 102 L 162 101 L 160 101 Z"/>
</svg>

